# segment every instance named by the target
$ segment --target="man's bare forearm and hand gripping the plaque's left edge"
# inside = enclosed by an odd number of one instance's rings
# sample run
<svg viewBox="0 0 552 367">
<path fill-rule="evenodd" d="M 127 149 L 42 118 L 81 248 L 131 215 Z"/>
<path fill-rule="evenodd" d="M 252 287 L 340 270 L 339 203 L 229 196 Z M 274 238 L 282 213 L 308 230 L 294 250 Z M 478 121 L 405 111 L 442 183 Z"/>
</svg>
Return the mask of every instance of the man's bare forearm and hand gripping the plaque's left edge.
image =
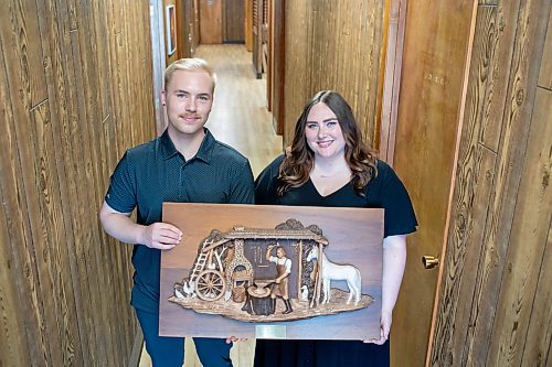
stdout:
<svg viewBox="0 0 552 367">
<path fill-rule="evenodd" d="M 99 220 L 104 230 L 119 241 L 140 244 L 160 250 L 170 250 L 182 238 L 182 231 L 167 223 L 153 223 L 142 226 L 130 219 L 130 213 L 120 213 L 106 202 L 99 211 Z"/>
</svg>

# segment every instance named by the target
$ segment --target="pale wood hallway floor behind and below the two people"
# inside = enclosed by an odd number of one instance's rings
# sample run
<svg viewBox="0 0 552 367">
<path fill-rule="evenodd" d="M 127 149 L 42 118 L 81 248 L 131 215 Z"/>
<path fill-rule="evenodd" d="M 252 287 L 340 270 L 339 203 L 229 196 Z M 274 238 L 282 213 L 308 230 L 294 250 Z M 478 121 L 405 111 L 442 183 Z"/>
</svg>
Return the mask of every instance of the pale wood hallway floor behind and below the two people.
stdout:
<svg viewBox="0 0 552 367">
<path fill-rule="evenodd" d="M 266 108 L 266 80 L 256 79 L 251 53 L 243 44 L 201 45 L 197 57 L 204 58 L 216 74 L 214 104 L 206 127 L 214 137 L 250 159 L 253 174 L 258 173 L 279 153 L 282 137 L 274 132 L 272 114 Z M 234 344 L 234 366 L 253 365 L 255 341 Z M 139 367 L 150 367 L 142 350 Z M 185 343 L 184 367 L 200 367 L 191 339 Z"/>
</svg>

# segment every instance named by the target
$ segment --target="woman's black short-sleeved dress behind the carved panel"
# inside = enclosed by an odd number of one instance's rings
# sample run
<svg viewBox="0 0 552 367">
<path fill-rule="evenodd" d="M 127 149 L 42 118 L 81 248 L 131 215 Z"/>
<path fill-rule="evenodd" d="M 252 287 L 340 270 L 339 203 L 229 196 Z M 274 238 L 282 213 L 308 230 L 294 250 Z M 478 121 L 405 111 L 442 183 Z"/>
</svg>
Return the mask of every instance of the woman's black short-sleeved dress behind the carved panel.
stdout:
<svg viewBox="0 0 552 367">
<path fill-rule="evenodd" d="M 386 163 L 378 161 L 378 176 L 365 187 L 365 197 L 358 195 L 351 183 L 321 196 L 310 180 L 278 196 L 278 168 L 283 159 L 284 155 L 278 156 L 257 177 L 256 204 L 384 208 L 384 237 L 416 230 L 416 216 L 408 194 Z M 255 366 L 389 366 L 389 341 L 380 346 L 360 341 L 257 339 Z"/>
</svg>

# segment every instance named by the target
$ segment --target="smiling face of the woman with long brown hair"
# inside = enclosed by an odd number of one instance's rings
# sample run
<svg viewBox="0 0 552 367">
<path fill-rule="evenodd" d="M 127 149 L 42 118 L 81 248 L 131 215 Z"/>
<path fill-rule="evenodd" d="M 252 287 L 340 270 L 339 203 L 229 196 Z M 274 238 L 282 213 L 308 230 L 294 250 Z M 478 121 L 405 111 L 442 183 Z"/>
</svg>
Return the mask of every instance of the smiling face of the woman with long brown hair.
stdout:
<svg viewBox="0 0 552 367">
<path fill-rule="evenodd" d="M 315 159 L 329 159 L 344 153 L 346 143 L 338 118 L 323 102 L 318 102 L 310 109 L 305 137 L 315 152 Z"/>
</svg>

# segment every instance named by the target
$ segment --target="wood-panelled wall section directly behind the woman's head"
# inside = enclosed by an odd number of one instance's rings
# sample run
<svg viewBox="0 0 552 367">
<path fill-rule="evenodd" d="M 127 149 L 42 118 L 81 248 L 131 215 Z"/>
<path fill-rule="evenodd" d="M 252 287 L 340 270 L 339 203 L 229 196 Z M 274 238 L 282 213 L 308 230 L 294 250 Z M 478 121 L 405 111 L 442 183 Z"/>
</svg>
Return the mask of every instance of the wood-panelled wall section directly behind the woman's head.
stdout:
<svg viewBox="0 0 552 367">
<path fill-rule="evenodd" d="M 284 141 L 293 139 L 302 107 L 321 89 L 335 89 L 353 109 L 375 145 L 384 1 L 286 1 Z"/>
</svg>

